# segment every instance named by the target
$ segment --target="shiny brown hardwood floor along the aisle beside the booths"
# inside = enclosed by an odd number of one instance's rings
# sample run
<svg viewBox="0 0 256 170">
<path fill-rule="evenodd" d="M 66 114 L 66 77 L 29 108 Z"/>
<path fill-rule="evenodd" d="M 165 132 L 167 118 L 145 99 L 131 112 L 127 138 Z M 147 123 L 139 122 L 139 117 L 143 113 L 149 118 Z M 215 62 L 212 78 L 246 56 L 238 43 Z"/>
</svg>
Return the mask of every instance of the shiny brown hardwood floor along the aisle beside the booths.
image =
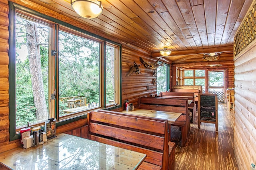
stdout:
<svg viewBox="0 0 256 170">
<path fill-rule="evenodd" d="M 201 123 L 198 129 L 190 123 L 190 135 L 185 147 L 180 147 L 178 127 L 171 129 L 171 141 L 176 142 L 175 170 L 238 170 L 234 158 L 234 111 L 226 111 L 226 104 L 218 104 L 218 131 L 215 124 Z"/>
</svg>

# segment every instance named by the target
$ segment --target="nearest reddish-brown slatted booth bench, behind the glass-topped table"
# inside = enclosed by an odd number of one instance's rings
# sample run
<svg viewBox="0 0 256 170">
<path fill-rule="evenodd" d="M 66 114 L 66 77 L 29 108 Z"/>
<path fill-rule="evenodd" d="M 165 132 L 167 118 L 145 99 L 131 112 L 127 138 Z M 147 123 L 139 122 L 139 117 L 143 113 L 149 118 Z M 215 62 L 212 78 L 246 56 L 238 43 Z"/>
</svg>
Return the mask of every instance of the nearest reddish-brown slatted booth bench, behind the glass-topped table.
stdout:
<svg viewBox="0 0 256 170">
<path fill-rule="evenodd" d="M 139 170 L 174 170 L 168 120 L 97 110 L 88 113 L 88 139 L 146 154 Z"/>
</svg>

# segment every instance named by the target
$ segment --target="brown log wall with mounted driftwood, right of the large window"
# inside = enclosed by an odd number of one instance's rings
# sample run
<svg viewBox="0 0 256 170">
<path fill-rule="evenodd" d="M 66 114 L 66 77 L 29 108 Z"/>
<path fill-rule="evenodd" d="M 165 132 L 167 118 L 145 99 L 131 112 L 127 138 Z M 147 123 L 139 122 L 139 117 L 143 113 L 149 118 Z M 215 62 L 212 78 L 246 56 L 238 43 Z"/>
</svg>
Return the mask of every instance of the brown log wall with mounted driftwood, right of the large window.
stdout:
<svg viewBox="0 0 256 170">
<path fill-rule="evenodd" d="M 124 101 L 129 100 L 133 105 L 138 104 L 138 98 L 142 96 L 149 96 L 156 94 L 156 84 L 153 84 L 153 70 L 146 68 L 141 62 L 142 57 L 148 63 L 156 61 L 156 59 L 150 59 L 150 56 L 139 53 L 127 47 L 122 48 L 122 107 L 124 109 Z M 128 76 L 130 66 L 133 66 L 133 62 L 140 64 L 142 74 L 135 74 L 133 72 Z M 149 90 L 147 90 L 147 86 Z"/>
</svg>

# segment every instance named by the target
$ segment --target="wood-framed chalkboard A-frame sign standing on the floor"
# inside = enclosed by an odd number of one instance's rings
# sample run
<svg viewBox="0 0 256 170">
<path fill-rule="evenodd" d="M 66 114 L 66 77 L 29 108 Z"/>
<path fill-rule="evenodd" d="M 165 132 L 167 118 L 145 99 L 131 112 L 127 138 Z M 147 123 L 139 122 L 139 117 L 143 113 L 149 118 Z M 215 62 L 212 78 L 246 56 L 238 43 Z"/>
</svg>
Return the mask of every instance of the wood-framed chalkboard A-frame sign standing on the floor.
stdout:
<svg viewBox="0 0 256 170">
<path fill-rule="evenodd" d="M 214 123 L 218 131 L 218 100 L 216 94 L 199 94 L 198 128 L 201 122 Z"/>
</svg>

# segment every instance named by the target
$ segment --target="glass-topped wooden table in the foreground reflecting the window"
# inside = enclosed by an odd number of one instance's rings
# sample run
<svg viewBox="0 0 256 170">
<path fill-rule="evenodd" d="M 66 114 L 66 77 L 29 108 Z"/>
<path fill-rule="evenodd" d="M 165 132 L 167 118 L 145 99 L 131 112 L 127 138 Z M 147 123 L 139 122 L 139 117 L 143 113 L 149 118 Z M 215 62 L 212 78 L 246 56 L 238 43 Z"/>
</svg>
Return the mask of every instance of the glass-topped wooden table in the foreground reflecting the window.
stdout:
<svg viewBox="0 0 256 170">
<path fill-rule="evenodd" d="M 33 170 L 135 170 L 145 158 L 146 154 L 64 133 L 35 148 L 0 154 L 0 162 L 12 169 Z"/>
</svg>

